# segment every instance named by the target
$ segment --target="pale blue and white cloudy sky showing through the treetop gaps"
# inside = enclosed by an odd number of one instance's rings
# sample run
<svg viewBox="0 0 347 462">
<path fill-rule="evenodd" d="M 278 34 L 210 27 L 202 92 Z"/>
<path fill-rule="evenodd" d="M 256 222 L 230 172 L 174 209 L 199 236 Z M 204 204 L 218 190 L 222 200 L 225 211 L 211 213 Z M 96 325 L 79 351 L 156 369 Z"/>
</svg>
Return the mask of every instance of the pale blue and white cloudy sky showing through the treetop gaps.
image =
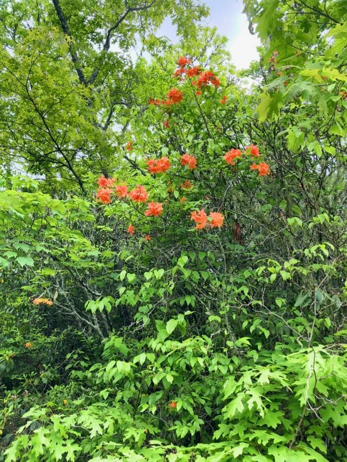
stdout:
<svg viewBox="0 0 347 462">
<path fill-rule="evenodd" d="M 242 0 L 203 0 L 210 7 L 210 16 L 206 25 L 216 26 L 218 32 L 228 37 L 229 51 L 232 62 L 237 69 L 248 67 L 249 63 L 258 59 L 256 47 L 260 45 L 257 36 L 251 35 L 248 30 L 248 21 L 242 13 Z M 170 20 L 166 20 L 160 33 L 175 41 L 175 28 Z"/>
</svg>

